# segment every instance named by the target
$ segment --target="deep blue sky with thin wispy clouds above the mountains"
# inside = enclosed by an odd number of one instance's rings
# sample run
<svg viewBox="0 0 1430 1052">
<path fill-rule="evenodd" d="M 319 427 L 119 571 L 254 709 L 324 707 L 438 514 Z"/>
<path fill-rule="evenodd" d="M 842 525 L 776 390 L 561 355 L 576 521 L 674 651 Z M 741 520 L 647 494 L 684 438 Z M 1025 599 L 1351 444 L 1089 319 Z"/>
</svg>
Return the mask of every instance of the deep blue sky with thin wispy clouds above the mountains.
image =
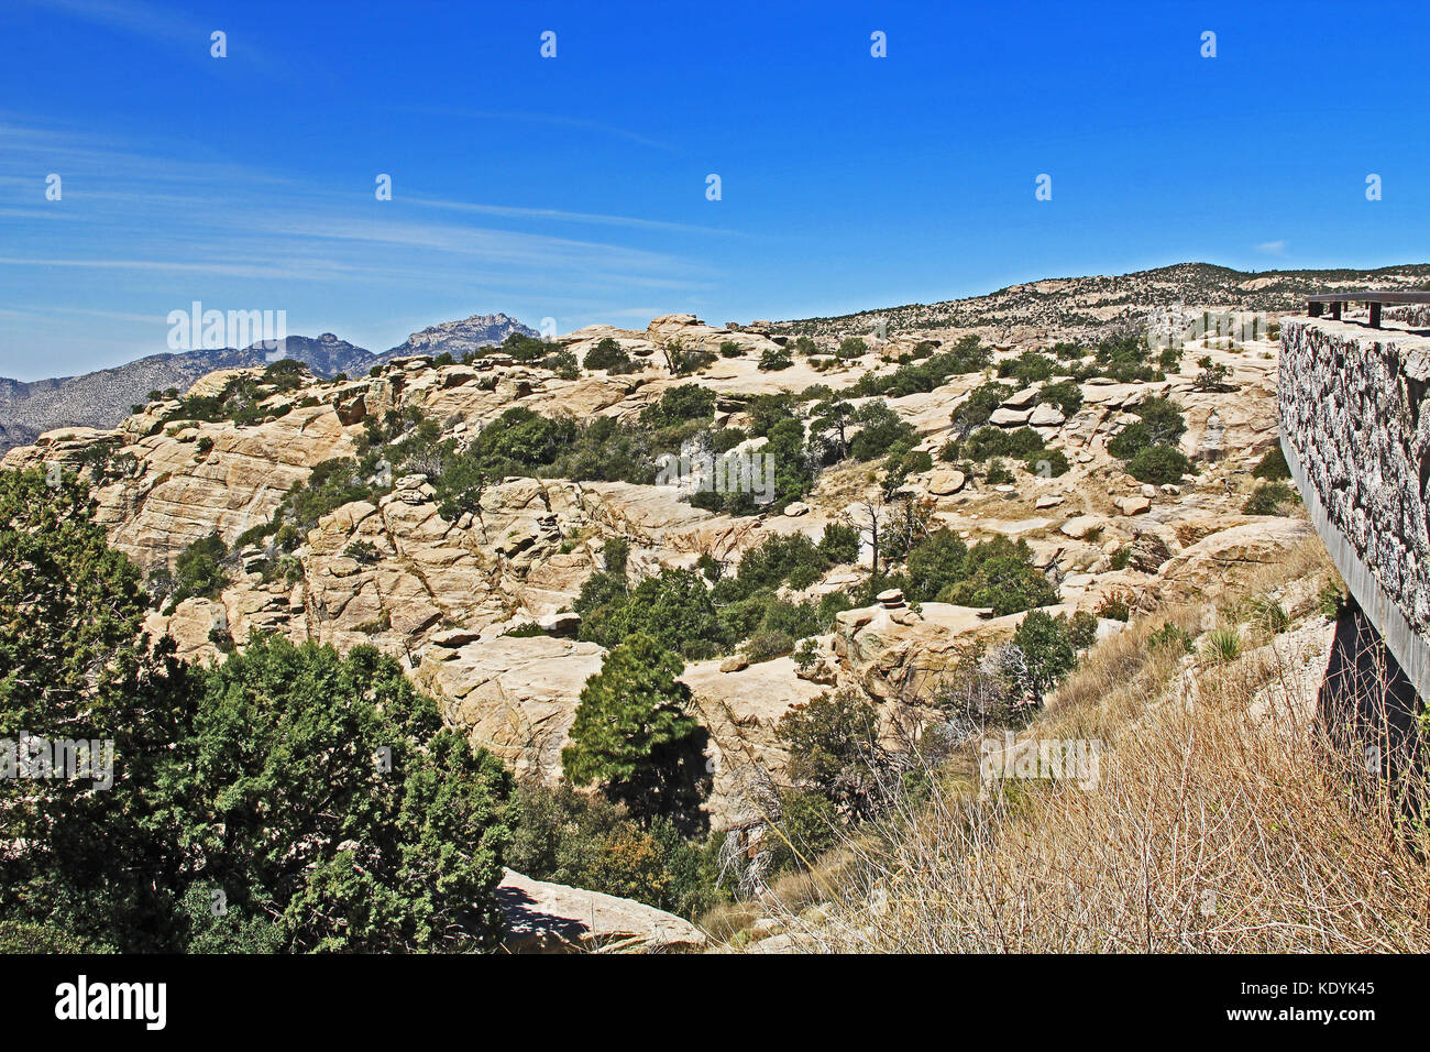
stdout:
<svg viewBox="0 0 1430 1052">
<path fill-rule="evenodd" d="M 1427 29 L 1419 3 L 6 0 L 0 375 L 163 351 L 194 299 L 386 349 L 493 311 L 1424 262 Z"/>
</svg>

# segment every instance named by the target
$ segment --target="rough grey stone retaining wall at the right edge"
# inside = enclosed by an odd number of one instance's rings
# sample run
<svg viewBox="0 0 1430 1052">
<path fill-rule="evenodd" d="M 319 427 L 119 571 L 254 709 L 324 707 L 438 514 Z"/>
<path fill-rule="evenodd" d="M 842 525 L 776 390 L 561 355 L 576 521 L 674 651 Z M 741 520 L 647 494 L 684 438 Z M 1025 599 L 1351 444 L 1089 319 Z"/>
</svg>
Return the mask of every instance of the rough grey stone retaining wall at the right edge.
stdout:
<svg viewBox="0 0 1430 1052">
<path fill-rule="evenodd" d="M 1281 448 L 1356 601 L 1430 698 L 1430 338 L 1281 322 Z"/>
</svg>

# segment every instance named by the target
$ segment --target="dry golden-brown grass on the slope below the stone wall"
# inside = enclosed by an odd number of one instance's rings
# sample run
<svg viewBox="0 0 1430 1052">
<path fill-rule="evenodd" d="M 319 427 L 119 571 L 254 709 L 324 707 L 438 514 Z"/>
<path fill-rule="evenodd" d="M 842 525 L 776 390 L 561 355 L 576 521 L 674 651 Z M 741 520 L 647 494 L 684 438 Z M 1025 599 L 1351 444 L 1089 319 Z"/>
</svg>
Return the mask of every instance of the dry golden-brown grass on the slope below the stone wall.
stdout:
<svg viewBox="0 0 1430 1052">
<path fill-rule="evenodd" d="M 1318 548 L 1217 604 L 1217 623 L 1248 631 L 1237 611 L 1268 594 L 1306 617 L 1303 597 L 1328 573 Z M 1164 621 L 1195 633 L 1205 618 L 1138 618 L 1034 724 L 1040 739 L 1107 746 L 1093 787 L 1008 779 L 940 793 L 847 844 L 818 913 L 771 913 L 811 950 L 1430 949 L 1430 832 L 1404 799 L 1430 799 L 1423 781 L 1390 786 L 1358 749 L 1331 747 L 1304 688 L 1253 714 L 1268 686 L 1300 674 L 1273 633 L 1231 661 L 1147 646 Z"/>
</svg>

